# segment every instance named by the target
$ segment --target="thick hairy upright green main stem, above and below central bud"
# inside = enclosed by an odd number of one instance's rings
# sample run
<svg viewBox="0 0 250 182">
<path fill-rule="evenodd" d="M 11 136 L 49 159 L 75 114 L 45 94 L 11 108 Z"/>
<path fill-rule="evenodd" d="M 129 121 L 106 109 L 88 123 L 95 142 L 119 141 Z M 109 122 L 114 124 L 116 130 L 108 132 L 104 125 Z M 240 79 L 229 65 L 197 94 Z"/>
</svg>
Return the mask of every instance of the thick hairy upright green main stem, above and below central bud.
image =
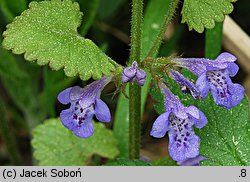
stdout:
<svg viewBox="0 0 250 182">
<path fill-rule="evenodd" d="M 132 1 L 131 52 L 129 64 L 140 64 L 143 0 Z M 141 88 L 129 85 L 129 158 L 139 159 L 141 137 Z"/>
</svg>

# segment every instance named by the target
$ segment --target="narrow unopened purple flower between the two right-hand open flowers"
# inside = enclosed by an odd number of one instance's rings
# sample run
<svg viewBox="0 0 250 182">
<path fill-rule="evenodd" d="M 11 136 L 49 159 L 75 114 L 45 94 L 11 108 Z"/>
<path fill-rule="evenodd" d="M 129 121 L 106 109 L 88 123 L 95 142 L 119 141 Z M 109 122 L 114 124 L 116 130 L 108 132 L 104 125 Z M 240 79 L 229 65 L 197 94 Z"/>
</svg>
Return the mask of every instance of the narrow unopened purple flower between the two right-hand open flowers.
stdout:
<svg viewBox="0 0 250 182">
<path fill-rule="evenodd" d="M 191 81 L 189 81 L 185 76 L 183 76 L 178 71 L 169 70 L 169 76 L 176 81 L 178 85 L 180 85 L 182 88 L 186 87 L 188 92 L 192 95 L 194 99 L 201 99 L 201 93 L 199 89 L 194 85 Z"/>
</svg>

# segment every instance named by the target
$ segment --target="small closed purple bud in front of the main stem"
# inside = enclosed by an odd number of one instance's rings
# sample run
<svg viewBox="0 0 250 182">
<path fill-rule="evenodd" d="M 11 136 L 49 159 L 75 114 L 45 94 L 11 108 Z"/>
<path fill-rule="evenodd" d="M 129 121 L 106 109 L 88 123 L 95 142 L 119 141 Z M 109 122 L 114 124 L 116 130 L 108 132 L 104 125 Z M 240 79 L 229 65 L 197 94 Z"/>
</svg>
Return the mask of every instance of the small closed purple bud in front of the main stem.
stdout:
<svg viewBox="0 0 250 182">
<path fill-rule="evenodd" d="M 146 72 L 138 67 L 136 61 L 132 63 L 131 67 L 127 67 L 122 72 L 122 82 L 135 82 L 143 86 L 146 81 Z"/>
</svg>

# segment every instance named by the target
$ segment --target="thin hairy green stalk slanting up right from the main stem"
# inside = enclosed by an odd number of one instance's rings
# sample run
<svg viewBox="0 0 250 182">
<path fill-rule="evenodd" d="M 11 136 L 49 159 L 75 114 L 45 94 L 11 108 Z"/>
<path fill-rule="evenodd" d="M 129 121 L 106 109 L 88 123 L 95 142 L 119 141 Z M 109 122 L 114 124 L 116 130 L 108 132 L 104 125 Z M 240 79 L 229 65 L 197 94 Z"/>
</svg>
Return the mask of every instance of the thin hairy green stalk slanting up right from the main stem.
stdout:
<svg viewBox="0 0 250 182">
<path fill-rule="evenodd" d="M 170 8 L 169 8 L 169 11 L 167 12 L 167 14 L 165 15 L 165 20 L 161 26 L 160 33 L 158 34 L 153 46 L 151 47 L 150 51 L 148 52 L 147 58 L 153 57 L 157 54 L 159 47 L 161 45 L 162 37 L 164 36 L 164 33 L 166 32 L 167 27 L 170 24 L 170 22 L 174 16 L 175 9 L 178 6 L 178 2 L 179 2 L 179 0 L 171 0 L 171 3 L 169 5 Z"/>
</svg>

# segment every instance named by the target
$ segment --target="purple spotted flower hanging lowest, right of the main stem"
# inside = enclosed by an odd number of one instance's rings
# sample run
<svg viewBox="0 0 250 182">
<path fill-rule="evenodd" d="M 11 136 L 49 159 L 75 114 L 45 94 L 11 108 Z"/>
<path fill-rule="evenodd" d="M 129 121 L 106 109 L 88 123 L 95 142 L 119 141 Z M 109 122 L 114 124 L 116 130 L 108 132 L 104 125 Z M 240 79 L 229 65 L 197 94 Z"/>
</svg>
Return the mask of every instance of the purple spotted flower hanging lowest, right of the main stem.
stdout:
<svg viewBox="0 0 250 182">
<path fill-rule="evenodd" d="M 206 116 L 195 106 L 184 107 L 165 84 L 160 83 L 160 89 L 165 112 L 154 122 L 150 135 L 161 138 L 168 132 L 168 151 L 175 161 L 198 156 L 200 138 L 192 126 L 204 127 L 208 122 Z"/>
</svg>

